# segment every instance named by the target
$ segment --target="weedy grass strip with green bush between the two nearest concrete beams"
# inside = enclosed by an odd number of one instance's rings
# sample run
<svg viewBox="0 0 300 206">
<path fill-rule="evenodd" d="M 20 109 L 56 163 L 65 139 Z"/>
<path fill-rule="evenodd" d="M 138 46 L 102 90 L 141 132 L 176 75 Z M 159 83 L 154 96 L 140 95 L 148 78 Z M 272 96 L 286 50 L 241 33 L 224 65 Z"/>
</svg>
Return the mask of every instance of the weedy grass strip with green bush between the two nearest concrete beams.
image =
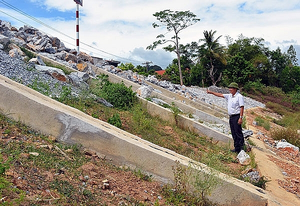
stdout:
<svg viewBox="0 0 300 206">
<path fill-rule="evenodd" d="M 107 76 L 99 76 L 96 80 L 90 85 L 90 91 L 101 96 L 103 92 L 101 88 L 104 88 L 107 84 Z M 152 143 L 184 156 L 192 157 L 194 160 L 203 162 L 221 172 L 239 177 L 240 170 L 232 169 L 229 166 L 230 162 L 237 163 L 234 154 L 229 152 L 229 145 L 219 146 L 210 138 L 182 129 L 177 123 L 171 124 L 158 116 L 150 116 L 142 104 L 133 98 L 132 91 L 130 93 L 127 89 L 121 88 L 124 87 L 123 84 L 117 84 L 116 87 L 113 83 L 108 83 L 108 85 L 114 90 L 114 98 L 121 96 L 123 101 L 128 102 L 126 107 L 123 106 L 123 102 L 120 106 L 115 105 L 114 108 L 106 107 L 95 102 L 95 99 L 89 97 L 85 92 L 73 97 L 69 95 L 70 89 L 67 88 L 62 89 L 61 95 L 59 95 L 60 98 L 57 98 L 57 100 L 100 120 L 118 125 L 129 133 Z M 118 94 L 118 91 L 126 91 L 126 93 L 121 92 Z M 171 105 L 170 109 L 173 111 L 174 119 L 176 119 L 176 115 L 180 112 L 179 108 Z"/>
</svg>

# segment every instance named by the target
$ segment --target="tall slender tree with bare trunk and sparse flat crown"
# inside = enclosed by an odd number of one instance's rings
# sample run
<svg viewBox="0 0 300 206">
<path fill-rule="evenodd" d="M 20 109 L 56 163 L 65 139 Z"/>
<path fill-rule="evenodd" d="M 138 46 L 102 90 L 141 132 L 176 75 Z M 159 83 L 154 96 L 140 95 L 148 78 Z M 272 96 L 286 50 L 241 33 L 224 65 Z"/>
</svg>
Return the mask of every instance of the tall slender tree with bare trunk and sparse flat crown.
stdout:
<svg viewBox="0 0 300 206">
<path fill-rule="evenodd" d="M 165 34 L 159 34 L 156 38 L 159 40 L 154 41 L 151 45 L 147 46 L 147 49 L 154 49 L 156 46 L 172 42 L 172 44 L 169 44 L 166 47 L 163 47 L 164 50 L 175 52 L 177 55 L 177 61 L 178 61 L 178 69 L 179 69 L 179 77 L 180 77 L 180 85 L 183 85 L 182 80 L 182 72 L 181 72 L 181 65 L 180 65 L 180 50 L 179 50 L 179 36 L 178 33 L 182 31 L 184 28 L 193 25 L 197 21 L 199 21 L 199 18 L 196 18 L 196 15 L 193 14 L 190 11 L 171 11 L 169 9 L 163 10 L 160 12 L 156 12 L 153 14 L 153 16 L 156 17 L 156 19 L 159 21 L 159 23 L 152 23 L 152 26 L 154 28 L 165 26 L 167 29 L 166 33 L 169 33 L 173 31 L 175 33 L 174 36 L 170 38 L 165 38 Z"/>
</svg>

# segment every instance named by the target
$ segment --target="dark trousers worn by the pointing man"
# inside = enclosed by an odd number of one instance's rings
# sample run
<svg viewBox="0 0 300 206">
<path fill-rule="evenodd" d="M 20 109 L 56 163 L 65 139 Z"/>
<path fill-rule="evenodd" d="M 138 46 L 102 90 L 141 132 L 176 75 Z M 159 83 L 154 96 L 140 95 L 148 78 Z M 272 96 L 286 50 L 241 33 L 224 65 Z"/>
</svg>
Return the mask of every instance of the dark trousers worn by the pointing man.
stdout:
<svg viewBox="0 0 300 206">
<path fill-rule="evenodd" d="M 242 134 L 241 124 L 238 124 L 239 115 L 229 117 L 229 125 L 231 135 L 234 142 L 234 149 L 240 151 L 244 147 L 244 138 Z"/>
</svg>

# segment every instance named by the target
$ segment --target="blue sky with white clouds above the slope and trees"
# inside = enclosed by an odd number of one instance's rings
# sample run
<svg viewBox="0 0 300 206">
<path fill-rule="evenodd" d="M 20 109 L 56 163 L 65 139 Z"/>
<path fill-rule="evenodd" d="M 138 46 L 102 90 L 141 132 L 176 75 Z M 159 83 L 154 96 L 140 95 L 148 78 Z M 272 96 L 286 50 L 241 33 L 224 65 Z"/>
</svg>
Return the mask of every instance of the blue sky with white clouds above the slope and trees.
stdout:
<svg viewBox="0 0 300 206">
<path fill-rule="evenodd" d="M 284 52 L 292 44 L 300 59 L 299 0 L 82 0 L 82 4 L 79 49 L 104 59 L 167 66 L 174 53 L 161 47 L 146 49 L 165 31 L 152 27 L 156 20 L 152 14 L 164 9 L 189 10 L 201 19 L 179 33 L 181 44 L 203 38 L 204 30 L 216 30 L 223 45 L 226 35 L 262 37 L 271 50 L 280 47 Z M 18 28 L 31 25 L 58 37 L 69 48 L 76 47 L 75 10 L 73 0 L 0 0 L 1 20 Z"/>
</svg>

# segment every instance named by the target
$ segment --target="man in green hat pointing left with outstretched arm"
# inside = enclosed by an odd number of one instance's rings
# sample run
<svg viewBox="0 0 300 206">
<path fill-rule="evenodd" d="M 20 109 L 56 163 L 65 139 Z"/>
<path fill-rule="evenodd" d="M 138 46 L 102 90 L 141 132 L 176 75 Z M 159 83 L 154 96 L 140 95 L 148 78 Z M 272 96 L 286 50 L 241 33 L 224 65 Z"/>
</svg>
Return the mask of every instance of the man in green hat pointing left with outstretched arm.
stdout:
<svg viewBox="0 0 300 206">
<path fill-rule="evenodd" d="M 230 125 L 231 135 L 234 142 L 234 149 L 232 149 L 231 151 L 239 153 L 240 150 L 242 150 L 244 147 L 244 138 L 243 138 L 243 133 L 241 128 L 242 115 L 244 110 L 244 98 L 237 91 L 239 89 L 237 83 L 235 82 L 230 83 L 228 85 L 228 88 L 230 93 L 226 93 L 226 94 L 213 92 L 210 90 L 206 90 L 206 92 L 227 99 L 229 125 Z"/>
</svg>

